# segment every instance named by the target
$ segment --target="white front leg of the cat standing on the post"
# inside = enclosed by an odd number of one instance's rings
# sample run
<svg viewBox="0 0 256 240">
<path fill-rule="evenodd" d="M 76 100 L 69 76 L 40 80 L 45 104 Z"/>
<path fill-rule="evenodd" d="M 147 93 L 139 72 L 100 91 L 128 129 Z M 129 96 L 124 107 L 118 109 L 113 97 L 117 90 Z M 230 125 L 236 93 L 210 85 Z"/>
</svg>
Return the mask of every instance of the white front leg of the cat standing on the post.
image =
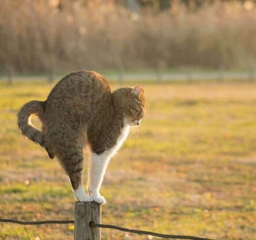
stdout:
<svg viewBox="0 0 256 240">
<path fill-rule="evenodd" d="M 88 169 L 88 193 L 96 203 L 105 204 L 106 200 L 100 195 L 100 186 L 110 160 L 109 151 L 101 154 L 91 153 Z"/>
</svg>

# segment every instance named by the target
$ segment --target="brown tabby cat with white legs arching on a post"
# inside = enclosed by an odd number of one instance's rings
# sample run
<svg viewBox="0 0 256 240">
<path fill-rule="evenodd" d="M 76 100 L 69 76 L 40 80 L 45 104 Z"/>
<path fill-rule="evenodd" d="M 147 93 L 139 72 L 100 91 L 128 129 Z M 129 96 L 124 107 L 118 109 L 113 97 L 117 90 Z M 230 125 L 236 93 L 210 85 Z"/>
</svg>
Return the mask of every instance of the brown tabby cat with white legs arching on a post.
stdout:
<svg viewBox="0 0 256 240">
<path fill-rule="evenodd" d="M 107 164 L 146 113 L 141 85 L 110 91 L 106 79 L 94 71 L 63 77 L 46 101 L 30 101 L 18 113 L 22 134 L 55 156 L 69 177 L 78 201 L 105 204 L 100 194 Z M 42 131 L 31 123 L 37 115 Z M 88 194 L 83 187 L 83 147 L 89 147 Z"/>
</svg>

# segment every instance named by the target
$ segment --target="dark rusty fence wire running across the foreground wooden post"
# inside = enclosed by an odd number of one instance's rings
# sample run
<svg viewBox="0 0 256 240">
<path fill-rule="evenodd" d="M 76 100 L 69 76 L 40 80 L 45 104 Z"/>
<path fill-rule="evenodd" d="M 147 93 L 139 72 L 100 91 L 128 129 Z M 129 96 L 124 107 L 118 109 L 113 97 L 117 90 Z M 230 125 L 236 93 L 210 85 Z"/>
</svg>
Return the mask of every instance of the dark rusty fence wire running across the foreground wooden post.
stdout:
<svg viewBox="0 0 256 240">
<path fill-rule="evenodd" d="M 16 219 L 4 219 L 0 218 L 0 222 L 2 223 L 17 223 L 21 225 L 42 225 L 42 224 L 74 224 L 74 220 L 47 220 L 47 221 L 19 221 Z M 162 233 L 155 233 L 143 230 L 135 230 L 135 229 L 126 229 L 124 227 L 119 227 L 115 225 L 107 225 L 107 224 L 98 224 L 98 223 L 89 223 L 89 227 L 101 227 L 104 229 L 116 229 L 126 233 L 137 233 L 142 235 L 151 235 L 157 236 L 159 238 L 169 238 L 169 239 L 189 239 L 189 240 L 216 240 L 210 238 L 200 238 L 197 236 L 186 236 L 186 235 L 166 235 Z"/>
</svg>

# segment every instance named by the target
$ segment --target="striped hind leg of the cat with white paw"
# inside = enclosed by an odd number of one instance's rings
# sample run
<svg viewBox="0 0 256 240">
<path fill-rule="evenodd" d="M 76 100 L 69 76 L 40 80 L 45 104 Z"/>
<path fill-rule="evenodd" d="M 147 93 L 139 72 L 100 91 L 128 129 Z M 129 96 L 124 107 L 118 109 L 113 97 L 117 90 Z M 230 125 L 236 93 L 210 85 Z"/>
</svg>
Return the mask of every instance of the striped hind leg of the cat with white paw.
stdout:
<svg viewBox="0 0 256 240">
<path fill-rule="evenodd" d="M 59 160 L 68 174 L 77 201 L 93 201 L 93 198 L 86 194 L 85 188 L 83 188 L 83 151 L 69 149 L 68 153 L 59 156 Z"/>
</svg>

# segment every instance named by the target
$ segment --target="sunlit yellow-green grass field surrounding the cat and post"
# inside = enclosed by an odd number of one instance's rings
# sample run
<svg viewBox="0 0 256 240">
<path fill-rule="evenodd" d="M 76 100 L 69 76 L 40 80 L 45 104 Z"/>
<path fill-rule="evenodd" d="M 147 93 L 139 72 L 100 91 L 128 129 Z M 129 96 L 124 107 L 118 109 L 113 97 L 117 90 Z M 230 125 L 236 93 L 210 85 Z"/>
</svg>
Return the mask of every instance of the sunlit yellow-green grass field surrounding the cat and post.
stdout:
<svg viewBox="0 0 256 240">
<path fill-rule="evenodd" d="M 19 107 L 46 99 L 53 86 L 0 83 L 0 218 L 74 219 L 75 198 L 59 163 L 16 126 Z M 256 83 L 144 84 L 144 89 L 147 116 L 104 178 L 102 222 L 255 239 Z M 73 232 L 72 224 L 0 223 L 0 239 L 72 239 Z M 106 229 L 102 234 L 103 240 L 159 239 Z"/>
</svg>

